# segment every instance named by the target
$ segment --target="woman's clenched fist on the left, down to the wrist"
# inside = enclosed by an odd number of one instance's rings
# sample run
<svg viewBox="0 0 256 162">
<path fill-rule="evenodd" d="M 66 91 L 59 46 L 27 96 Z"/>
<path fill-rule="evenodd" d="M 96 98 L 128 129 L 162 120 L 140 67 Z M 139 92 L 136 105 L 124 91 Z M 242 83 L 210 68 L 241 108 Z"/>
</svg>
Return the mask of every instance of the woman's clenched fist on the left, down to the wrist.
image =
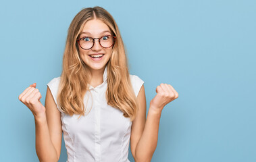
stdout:
<svg viewBox="0 0 256 162">
<path fill-rule="evenodd" d="M 36 88 L 36 83 L 28 86 L 19 96 L 22 101 L 32 111 L 34 117 L 39 117 L 45 113 L 45 107 L 40 102 L 42 98 L 39 89 Z"/>
</svg>

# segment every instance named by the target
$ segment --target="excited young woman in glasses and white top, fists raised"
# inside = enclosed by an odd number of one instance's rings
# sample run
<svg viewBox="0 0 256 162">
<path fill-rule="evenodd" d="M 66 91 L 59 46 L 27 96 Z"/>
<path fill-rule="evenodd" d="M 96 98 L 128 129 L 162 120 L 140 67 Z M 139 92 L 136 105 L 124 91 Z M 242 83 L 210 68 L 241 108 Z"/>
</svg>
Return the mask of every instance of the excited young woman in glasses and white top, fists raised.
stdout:
<svg viewBox="0 0 256 162">
<path fill-rule="evenodd" d="M 82 9 L 68 29 L 60 77 L 47 84 L 45 106 L 36 84 L 19 99 L 33 113 L 39 160 L 58 161 L 61 136 L 68 161 L 151 161 L 163 107 L 178 98 L 160 84 L 146 120 L 143 80 L 130 75 L 118 25 L 102 7 Z"/>
</svg>

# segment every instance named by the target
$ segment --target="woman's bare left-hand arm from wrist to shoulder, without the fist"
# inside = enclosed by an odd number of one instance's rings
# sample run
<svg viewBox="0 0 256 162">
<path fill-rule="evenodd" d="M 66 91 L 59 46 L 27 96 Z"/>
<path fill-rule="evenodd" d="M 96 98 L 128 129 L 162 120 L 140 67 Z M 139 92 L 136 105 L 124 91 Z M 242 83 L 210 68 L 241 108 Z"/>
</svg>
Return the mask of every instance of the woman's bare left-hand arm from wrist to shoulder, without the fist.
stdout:
<svg viewBox="0 0 256 162">
<path fill-rule="evenodd" d="M 49 88 L 45 98 L 45 115 L 34 118 L 36 124 L 36 154 L 41 162 L 58 161 L 61 151 L 61 114 Z"/>
</svg>

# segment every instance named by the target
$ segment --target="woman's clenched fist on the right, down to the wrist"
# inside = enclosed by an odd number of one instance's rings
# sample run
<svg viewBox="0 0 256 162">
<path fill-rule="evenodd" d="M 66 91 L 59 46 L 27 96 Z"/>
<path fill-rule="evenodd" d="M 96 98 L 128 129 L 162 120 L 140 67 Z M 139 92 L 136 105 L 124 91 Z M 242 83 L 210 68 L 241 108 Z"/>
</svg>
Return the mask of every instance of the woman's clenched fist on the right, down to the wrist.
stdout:
<svg viewBox="0 0 256 162">
<path fill-rule="evenodd" d="M 154 99 L 151 100 L 150 107 L 160 111 L 165 105 L 178 98 L 178 92 L 176 92 L 170 84 L 161 83 L 157 86 L 155 92 L 157 92 L 157 94 Z"/>
</svg>

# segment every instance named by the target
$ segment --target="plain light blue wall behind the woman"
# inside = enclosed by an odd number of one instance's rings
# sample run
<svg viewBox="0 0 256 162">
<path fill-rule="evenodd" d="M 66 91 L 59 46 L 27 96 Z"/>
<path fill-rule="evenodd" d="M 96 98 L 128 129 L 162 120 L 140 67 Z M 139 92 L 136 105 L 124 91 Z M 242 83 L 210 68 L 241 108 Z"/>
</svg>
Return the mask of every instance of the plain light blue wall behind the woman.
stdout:
<svg viewBox="0 0 256 162">
<path fill-rule="evenodd" d="M 161 115 L 152 161 L 256 161 L 253 0 L 1 1 L 0 161 L 39 161 L 34 118 L 18 95 L 36 82 L 45 103 L 70 22 L 95 5 L 118 23 L 148 108 L 161 82 L 179 93 Z"/>
</svg>

